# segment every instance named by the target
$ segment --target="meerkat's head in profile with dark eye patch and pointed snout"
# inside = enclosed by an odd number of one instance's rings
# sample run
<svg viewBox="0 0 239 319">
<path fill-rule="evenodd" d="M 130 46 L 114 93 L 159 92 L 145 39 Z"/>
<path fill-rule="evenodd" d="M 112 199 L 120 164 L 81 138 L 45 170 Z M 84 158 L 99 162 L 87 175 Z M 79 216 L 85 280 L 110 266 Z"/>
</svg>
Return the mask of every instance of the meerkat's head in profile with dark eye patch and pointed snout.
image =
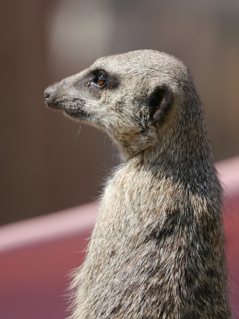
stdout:
<svg viewBox="0 0 239 319">
<path fill-rule="evenodd" d="M 186 66 L 152 50 L 96 60 L 45 90 L 47 106 L 104 129 L 130 158 L 159 144 L 191 85 Z"/>
</svg>

